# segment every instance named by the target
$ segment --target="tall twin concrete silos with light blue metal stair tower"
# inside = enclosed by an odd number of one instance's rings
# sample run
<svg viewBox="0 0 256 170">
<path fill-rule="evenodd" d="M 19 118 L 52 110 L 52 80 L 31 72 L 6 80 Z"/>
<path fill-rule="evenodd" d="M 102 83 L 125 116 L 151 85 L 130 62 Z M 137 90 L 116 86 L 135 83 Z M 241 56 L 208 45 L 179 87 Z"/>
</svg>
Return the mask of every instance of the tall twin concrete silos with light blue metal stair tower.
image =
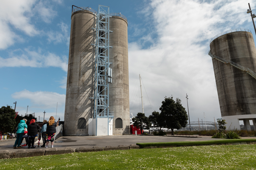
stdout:
<svg viewBox="0 0 256 170">
<path fill-rule="evenodd" d="M 129 133 L 129 118 L 126 17 L 72 8 L 64 134 Z"/>
</svg>

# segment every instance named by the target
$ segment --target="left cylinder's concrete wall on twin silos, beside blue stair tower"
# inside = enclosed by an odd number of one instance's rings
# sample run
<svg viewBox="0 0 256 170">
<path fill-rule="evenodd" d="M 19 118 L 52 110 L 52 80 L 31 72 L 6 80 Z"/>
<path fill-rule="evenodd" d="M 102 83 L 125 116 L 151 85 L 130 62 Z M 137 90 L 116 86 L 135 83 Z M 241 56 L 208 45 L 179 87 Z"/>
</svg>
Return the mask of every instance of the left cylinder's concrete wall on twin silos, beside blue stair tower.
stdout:
<svg viewBox="0 0 256 170">
<path fill-rule="evenodd" d="M 71 16 L 68 80 L 65 106 L 65 135 L 88 135 L 88 125 L 78 129 L 80 117 L 93 117 L 94 58 L 96 15 L 90 11 L 77 11 Z"/>
</svg>

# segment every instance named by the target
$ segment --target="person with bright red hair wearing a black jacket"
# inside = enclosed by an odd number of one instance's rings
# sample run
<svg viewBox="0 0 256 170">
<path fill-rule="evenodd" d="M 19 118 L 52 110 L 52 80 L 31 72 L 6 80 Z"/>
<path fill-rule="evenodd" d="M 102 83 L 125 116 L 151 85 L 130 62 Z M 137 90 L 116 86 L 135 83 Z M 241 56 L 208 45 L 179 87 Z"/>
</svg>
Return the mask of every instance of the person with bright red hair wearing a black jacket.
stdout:
<svg viewBox="0 0 256 170">
<path fill-rule="evenodd" d="M 40 126 L 35 123 L 36 120 L 32 119 L 30 121 L 30 124 L 28 125 L 28 149 L 35 148 L 34 143 L 35 143 L 35 137 L 38 135 L 38 129 L 40 129 Z M 32 146 L 31 146 L 32 145 Z"/>
</svg>

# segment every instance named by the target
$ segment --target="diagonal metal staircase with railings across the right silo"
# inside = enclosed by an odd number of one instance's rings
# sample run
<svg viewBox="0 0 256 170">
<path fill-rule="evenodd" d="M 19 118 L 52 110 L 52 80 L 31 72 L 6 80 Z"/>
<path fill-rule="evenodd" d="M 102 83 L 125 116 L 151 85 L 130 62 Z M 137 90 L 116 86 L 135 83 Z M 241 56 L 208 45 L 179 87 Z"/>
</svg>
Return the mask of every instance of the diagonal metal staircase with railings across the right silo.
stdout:
<svg viewBox="0 0 256 170">
<path fill-rule="evenodd" d="M 243 67 L 243 66 L 241 66 L 241 65 L 239 65 L 239 64 L 237 64 L 237 63 L 232 62 L 231 60 L 225 60 L 225 59 L 222 59 L 222 58 L 220 58 L 220 57 L 218 57 L 218 56 L 212 55 L 212 53 L 210 52 L 210 50 L 208 51 L 208 55 L 209 55 L 210 57 L 212 57 L 212 59 L 219 60 L 220 62 L 223 62 L 223 63 L 225 63 L 225 64 L 230 64 L 230 65 L 232 65 L 232 66 L 238 68 L 239 70 L 242 70 L 242 71 L 244 71 L 244 72 L 250 74 L 254 79 L 256 79 L 256 73 L 254 73 L 252 70 L 250 70 L 250 68 Z"/>
</svg>

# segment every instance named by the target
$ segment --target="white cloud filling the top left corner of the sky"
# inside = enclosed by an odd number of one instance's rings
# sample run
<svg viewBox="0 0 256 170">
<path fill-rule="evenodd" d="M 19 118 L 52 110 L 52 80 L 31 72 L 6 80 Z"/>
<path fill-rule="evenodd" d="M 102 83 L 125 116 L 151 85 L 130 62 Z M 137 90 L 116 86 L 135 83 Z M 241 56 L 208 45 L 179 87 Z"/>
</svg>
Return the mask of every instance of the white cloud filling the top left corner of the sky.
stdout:
<svg viewBox="0 0 256 170">
<path fill-rule="evenodd" d="M 2 1 L 0 5 L 0 49 L 6 49 L 22 39 L 15 31 L 22 31 L 28 36 L 38 35 L 41 31 L 35 27 L 34 20 L 39 17 L 49 23 L 57 15 L 52 6 L 49 1 Z"/>
</svg>

